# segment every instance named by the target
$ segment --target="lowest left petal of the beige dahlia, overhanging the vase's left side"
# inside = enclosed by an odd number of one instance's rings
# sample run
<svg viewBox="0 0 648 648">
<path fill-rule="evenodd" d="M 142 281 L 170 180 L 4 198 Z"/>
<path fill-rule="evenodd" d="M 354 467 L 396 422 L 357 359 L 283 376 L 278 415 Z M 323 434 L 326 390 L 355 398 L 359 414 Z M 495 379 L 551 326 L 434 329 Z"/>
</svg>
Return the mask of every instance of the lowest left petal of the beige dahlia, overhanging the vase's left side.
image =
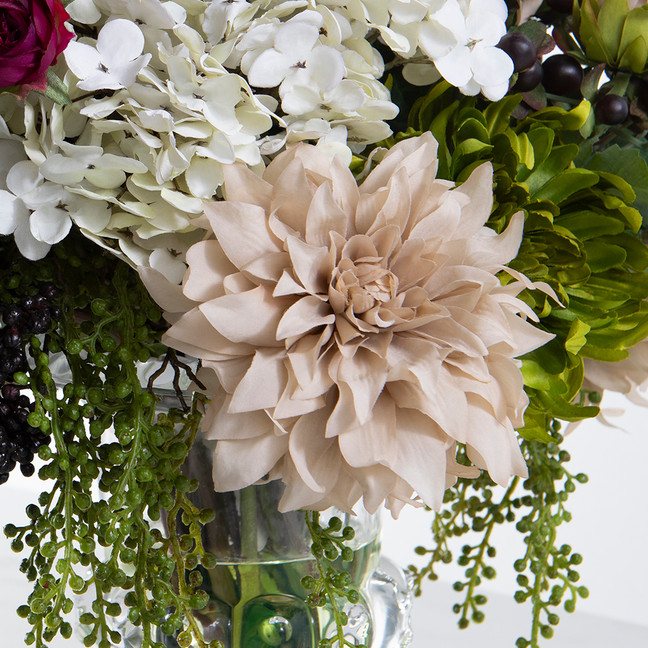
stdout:
<svg viewBox="0 0 648 648">
<path fill-rule="evenodd" d="M 240 490 L 258 482 L 287 450 L 286 435 L 219 441 L 214 451 L 214 489 Z"/>
</svg>

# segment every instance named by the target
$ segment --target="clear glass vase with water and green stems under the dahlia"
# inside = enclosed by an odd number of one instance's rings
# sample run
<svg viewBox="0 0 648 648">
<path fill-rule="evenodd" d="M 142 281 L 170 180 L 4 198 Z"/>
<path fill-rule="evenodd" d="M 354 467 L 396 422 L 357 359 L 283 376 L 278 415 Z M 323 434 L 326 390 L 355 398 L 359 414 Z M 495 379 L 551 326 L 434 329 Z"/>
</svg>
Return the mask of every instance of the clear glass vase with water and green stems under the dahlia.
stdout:
<svg viewBox="0 0 648 648">
<path fill-rule="evenodd" d="M 210 508 L 215 519 L 203 529 L 203 546 L 216 557 L 211 569 L 201 568 L 201 588 L 208 605 L 196 614 L 206 641 L 225 648 L 317 648 L 320 640 L 337 637 L 333 610 L 307 604 L 304 577 L 319 577 L 311 535 L 303 512 L 277 510 L 283 486 L 270 482 L 241 491 L 216 493 L 211 477 L 210 447 L 197 442 L 188 458 L 187 476 L 200 487 L 191 495 L 199 508 Z M 380 520 L 364 509 L 350 516 L 333 509 L 320 514 L 326 527 L 331 517 L 355 531 L 346 543 L 353 550 L 345 571 L 360 594 L 357 603 L 336 603 L 348 618 L 348 645 L 404 648 L 411 640 L 410 593 L 403 572 L 380 557 Z M 173 637 L 160 636 L 168 648 L 179 648 Z M 334 641 L 332 646 L 336 646 Z"/>
</svg>

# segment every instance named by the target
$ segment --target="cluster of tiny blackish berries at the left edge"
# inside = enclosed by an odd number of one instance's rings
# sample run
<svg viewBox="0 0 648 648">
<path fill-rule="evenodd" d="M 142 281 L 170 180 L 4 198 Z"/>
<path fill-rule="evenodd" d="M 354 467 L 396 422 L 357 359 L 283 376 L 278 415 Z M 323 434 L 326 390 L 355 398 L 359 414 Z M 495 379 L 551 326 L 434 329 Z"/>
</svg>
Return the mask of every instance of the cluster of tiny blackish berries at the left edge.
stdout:
<svg viewBox="0 0 648 648">
<path fill-rule="evenodd" d="M 33 403 L 12 380 L 16 372 L 28 368 L 25 341 L 46 333 L 52 320 L 60 319 L 61 309 L 52 302 L 57 294 L 54 285 L 46 284 L 33 297 L 0 302 L 0 484 L 7 481 L 16 464 L 24 475 L 32 475 L 34 454 L 50 441 L 28 423 Z"/>
</svg>

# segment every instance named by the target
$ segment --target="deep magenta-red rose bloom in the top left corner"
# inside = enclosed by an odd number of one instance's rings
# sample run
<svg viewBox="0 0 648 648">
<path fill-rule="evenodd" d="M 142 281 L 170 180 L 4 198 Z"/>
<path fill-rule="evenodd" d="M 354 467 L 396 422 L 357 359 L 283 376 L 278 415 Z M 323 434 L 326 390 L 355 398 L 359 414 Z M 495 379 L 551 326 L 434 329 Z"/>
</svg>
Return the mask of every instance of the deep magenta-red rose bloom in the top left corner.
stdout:
<svg viewBox="0 0 648 648">
<path fill-rule="evenodd" d="M 0 0 L 0 88 L 47 88 L 47 68 L 73 34 L 61 0 Z"/>
</svg>

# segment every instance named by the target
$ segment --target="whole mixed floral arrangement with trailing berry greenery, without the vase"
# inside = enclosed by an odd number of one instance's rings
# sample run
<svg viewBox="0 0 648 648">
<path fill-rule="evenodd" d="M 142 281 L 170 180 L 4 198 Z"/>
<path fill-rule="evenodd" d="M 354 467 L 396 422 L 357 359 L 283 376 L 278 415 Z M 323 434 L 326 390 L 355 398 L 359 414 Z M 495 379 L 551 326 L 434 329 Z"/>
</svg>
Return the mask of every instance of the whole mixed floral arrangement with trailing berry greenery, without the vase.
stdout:
<svg viewBox="0 0 648 648">
<path fill-rule="evenodd" d="M 123 611 L 143 648 L 221 645 L 198 436 L 217 490 L 307 512 L 315 604 L 357 598 L 317 511 L 427 506 L 415 592 L 472 530 L 453 609 L 481 621 L 516 523 L 516 645 L 550 638 L 587 596 L 561 422 L 648 378 L 647 130 L 641 1 L 0 2 L 0 483 L 46 483 L 5 527 L 26 643 L 90 590 L 87 646 Z M 355 645 L 335 621 L 320 645 Z"/>
</svg>

